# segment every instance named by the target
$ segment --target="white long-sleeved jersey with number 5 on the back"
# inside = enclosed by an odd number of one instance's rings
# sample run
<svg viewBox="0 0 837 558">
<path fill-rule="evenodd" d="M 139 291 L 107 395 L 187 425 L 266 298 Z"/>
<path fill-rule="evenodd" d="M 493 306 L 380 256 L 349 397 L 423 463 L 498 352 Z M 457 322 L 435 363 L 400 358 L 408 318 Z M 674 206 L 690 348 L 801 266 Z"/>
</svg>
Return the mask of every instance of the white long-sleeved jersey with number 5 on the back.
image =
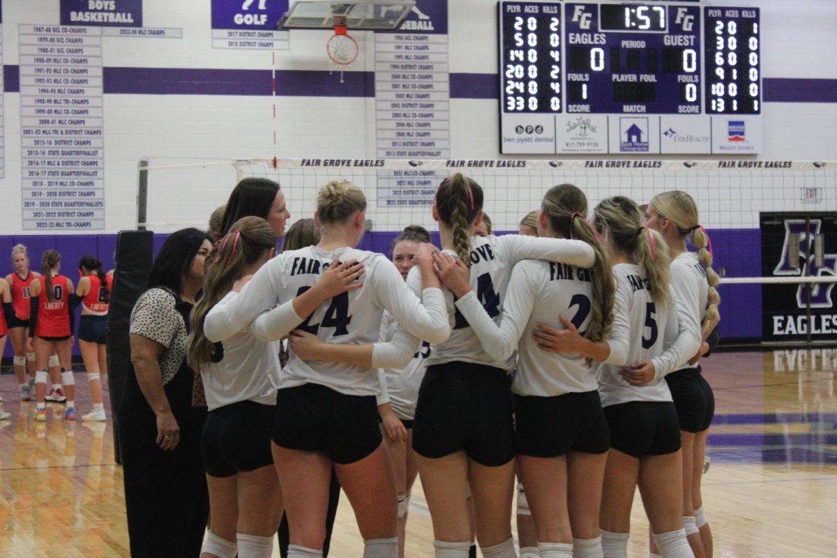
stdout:
<svg viewBox="0 0 837 558">
<path fill-rule="evenodd" d="M 695 355 L 700 347 L 700 334 L 693 328 L 680 326 L 674 289 L 669 289 L 668 302 L 655 302 L 642 266 L 616 264 L 613 269 L 616 301 L 610 342 L 627 345 L 627 360 L 598 366 L 602 407 L 632 401 L 671 401 L 665 374 Z M 654 362 L 655 378 L 644 386 L 630 385 L 619 371 L 644 360 Z"/>
</svg>

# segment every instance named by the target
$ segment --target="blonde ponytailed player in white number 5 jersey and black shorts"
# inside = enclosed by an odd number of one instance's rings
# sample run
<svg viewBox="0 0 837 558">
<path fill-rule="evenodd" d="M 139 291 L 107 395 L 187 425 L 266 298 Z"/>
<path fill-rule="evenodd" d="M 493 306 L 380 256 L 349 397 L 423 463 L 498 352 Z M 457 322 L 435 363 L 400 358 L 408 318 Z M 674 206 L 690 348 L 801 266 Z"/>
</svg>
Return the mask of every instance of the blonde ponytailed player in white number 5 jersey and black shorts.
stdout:
<svg viewBox="0 0 837 558">
<path fill-rule="evenodd" d="M 639 485 L 663 555 L 686 558 L 692 553 L 680 518 L 680 435 L 664 376 L 697 351 L 700 334 L 677 319 L 668 250 L 658 233 L 642 226 L 636 204 L 611 197 L 593 215 L 614 264 L 614 330 L 607 342 L 598 343 L 573 327 L 537 338 L 551 350 L 603 361 L 599 394 L 611 439 L 601 512 L 603 554 L 627 556 L 630 510 Z M 625 363 L 631 366 L 624 368 Z"/>
</svg>

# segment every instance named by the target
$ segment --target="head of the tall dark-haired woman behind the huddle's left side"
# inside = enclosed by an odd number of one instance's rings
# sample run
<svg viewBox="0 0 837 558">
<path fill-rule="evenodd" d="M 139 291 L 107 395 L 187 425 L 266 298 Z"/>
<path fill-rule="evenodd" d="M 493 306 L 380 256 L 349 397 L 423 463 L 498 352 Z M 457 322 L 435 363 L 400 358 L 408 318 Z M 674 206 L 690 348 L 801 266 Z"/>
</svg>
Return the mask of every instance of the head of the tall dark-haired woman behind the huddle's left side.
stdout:
<svg viewBox="0 0 837 558">
<path fill-rule="evenodd" d="M 290 219 L 285 194 L 279 184 L 267 178 L 244 178 L 229 195 L 223 212 L 221 234 L 228 233 L 233 223 L 243 217 L 260 217 L 270 223 L 276 236 L 285 236 L 285 223 Z"/>
</svg>

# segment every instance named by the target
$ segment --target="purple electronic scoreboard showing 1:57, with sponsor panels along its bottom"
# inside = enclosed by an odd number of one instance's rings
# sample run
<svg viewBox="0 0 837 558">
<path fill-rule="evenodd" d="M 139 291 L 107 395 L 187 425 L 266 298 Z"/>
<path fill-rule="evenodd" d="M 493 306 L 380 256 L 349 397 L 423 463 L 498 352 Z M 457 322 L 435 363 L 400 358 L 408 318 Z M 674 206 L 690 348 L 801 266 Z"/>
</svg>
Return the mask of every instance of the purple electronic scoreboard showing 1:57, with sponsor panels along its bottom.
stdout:
<svg viewBox="0 0 837 558">
<path fill-rule="evenodd" d="M 759 9 L 501 2 L 501 152 L 757 153 Z"/>
</svg>

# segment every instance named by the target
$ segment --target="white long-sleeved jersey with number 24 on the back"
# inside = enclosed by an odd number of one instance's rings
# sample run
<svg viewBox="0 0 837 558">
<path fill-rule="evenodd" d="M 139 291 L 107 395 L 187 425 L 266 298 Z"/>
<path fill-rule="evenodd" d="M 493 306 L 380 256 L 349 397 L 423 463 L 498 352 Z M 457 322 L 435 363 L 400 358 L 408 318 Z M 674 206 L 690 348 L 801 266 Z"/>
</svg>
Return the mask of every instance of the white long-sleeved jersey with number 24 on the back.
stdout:
<svg viewBox="0 0 837 558">
<path fill-rule="evenodd" d="M 364 266 L 360 289 L 326 300 L 312 315 L 300 320 L 293 299 L 310 289 L 332 261 L 352 259 Z M 382 254 L 338 248 L 326 252 L 316 246 L 284 252 L 264 264 L 244 289 L 219 311 L 213 320 L 211 339 L 224 339 L 252 322 L 259 338 L 278 339 L 291 329 L 305 330 L 321 340 L 364 345 L 380 337 L 383 310 L 389 310 L 410 334 L 423 339 L 444 340 L 449 326 L 444 297 L 439 289 L 424 289 L 424 304 L 410 292 L 398 269 Z M 274 310 L 265 311 L 279 305 Z M 289 315 L 281 327 L 275 316 Z M 300 324 L 300 321 L 302 322 Z M 208 329 L 208 328 L 207 328 Z M 207 333 L 209 337 L 210 332 Z M 316 383 L 347 395 L 380 393 L 377 370 L 366 366 L 324 361 L 302 361 L 293 351 L 280 376 L 280 389 Z"/>
</svg>

